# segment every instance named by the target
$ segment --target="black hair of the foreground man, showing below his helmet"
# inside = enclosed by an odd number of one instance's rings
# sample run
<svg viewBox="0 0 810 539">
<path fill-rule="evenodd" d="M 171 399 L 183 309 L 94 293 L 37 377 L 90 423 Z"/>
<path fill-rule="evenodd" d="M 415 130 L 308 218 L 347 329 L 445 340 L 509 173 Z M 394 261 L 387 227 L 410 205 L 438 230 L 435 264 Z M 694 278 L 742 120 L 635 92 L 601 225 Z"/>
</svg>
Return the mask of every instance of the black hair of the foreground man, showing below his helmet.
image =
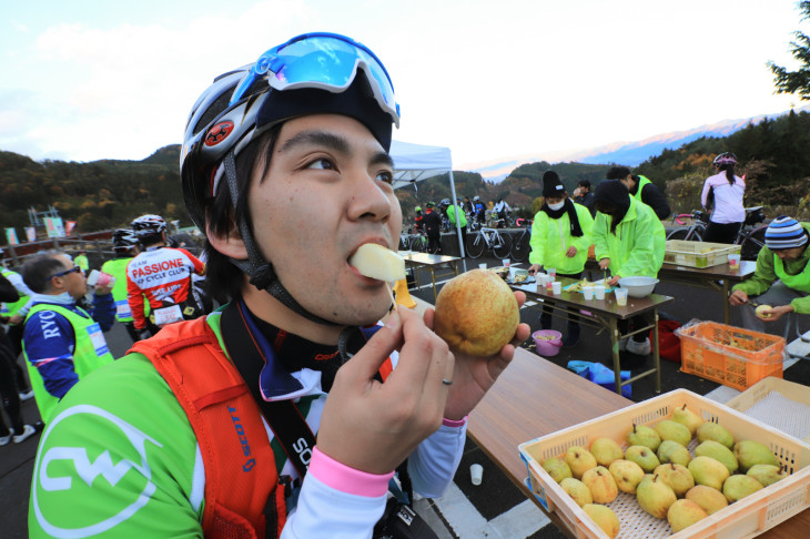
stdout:
<svg viewBox="0 0 810 539">
<path fill-rule="evenodd" d="M 243 215 L 247 223 L 251 223 L 247 206 L 250 181 L 259 162 L 264 163 L 262 175 L 266 174 L 281 125 L 279 124 L 262 133 L 245 146 L 236 157 L 236 183 L 240 192 L 237 207 L 234 210 L 231 203 L 231 192 L 227 185 L 224 184 L 226 182 L 224 177 L 222 179 L 223 185 L 217 190 L 216 196 L 205 205 L 205 224 L 213 234 L 225 235 L 232 231 L 239 234 L 237 223 Z M 257 159 L 262 154 L 265 159 Z M 211 245 L 207 240 L 207 231 L 202 232 L 205 233 L 205 246 L 203 247 L 204 257 L 206 258 L 205 286 L 211 297 L 224 304 L 241 295 L 245 274 L 233 265 L 227 256 Z"/>
</svg>

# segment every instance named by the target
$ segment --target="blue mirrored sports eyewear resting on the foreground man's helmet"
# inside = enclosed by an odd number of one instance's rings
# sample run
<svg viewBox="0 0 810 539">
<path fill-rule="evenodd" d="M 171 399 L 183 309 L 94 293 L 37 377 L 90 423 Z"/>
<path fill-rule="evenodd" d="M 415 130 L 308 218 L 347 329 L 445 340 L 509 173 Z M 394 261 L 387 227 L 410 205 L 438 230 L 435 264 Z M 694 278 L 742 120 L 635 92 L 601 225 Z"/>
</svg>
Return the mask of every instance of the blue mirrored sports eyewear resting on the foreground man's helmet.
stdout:
<svg viewBox="0 0 810 539">
<path fill-rule="evenodd" d="M 365 45 L 336 33 L 305 33 L 264 52 L 231 95 L 230 105 L 266 78 L 274 90 L 316 88 L 333 93 L 346 90 L 357 70 L 366 73 L 381 109 L 399 126 L 399 105 L 383 62 Z"/>
</svg>

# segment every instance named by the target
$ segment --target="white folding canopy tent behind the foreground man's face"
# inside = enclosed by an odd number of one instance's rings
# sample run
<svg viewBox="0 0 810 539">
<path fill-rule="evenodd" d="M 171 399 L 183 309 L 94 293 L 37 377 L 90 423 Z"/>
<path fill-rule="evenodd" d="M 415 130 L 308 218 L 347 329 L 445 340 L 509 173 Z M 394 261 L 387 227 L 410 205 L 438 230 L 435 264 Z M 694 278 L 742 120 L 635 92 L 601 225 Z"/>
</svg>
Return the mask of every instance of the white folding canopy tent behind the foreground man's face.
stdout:
<svg viewBox="0 0 810 539">
<path fill-rule="evenodd" d="M 458 199 L 456 196 L 456 182 L 453 180 L 453 160 L 449 148 L 392 141 L 389 154 L 394 160 L 394 189 L 414 185 L 416 182 L 449 173 L 450 193 L 453 194 L 450 200 L 455 203 Z M 457 209 L 456 215 L 463 211 Z M 456 220 L 456 234 L 459 252 L 464 257 L 460 220 Z"/>
</svg>

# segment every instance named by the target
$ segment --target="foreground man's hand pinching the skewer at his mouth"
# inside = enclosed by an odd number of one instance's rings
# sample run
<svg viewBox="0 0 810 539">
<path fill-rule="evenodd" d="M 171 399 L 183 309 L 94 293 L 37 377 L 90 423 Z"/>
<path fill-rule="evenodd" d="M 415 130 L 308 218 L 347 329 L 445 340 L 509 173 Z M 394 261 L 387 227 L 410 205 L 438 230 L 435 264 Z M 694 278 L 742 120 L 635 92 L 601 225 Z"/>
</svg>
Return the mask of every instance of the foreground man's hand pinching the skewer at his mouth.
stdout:
<svg viewBox="0 0 810 539">
<path fill-rule="evenodd" d="M 397 367 L 374 379 L 394 349 Z M 326 398 L 317 446 L 354 469 L 387 474 L 442 426 L 454 358 L 422 317 L 398 308 L 386 327 L 343 365 Z M 454 380 L 455 385 L 455 380 Z"/>
</svg>

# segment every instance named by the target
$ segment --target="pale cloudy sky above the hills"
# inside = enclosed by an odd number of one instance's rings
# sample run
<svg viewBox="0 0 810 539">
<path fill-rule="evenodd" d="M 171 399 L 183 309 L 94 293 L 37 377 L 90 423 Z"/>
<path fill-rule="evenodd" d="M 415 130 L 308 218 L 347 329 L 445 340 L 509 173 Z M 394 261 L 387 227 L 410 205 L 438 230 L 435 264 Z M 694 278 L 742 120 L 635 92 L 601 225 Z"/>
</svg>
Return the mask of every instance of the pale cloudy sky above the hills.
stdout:
<svg viewBox="0 0 810 539">
<path fill-rule="evenodd" d="M 802 103 L 794 0 L 0 0 L 0 150 L 36 160 L 149 156 L 180 143 L 214 77 L 306 31 L 374 50 L 402 106 L 394 138 L 455 169 Z"/>
</svg>

